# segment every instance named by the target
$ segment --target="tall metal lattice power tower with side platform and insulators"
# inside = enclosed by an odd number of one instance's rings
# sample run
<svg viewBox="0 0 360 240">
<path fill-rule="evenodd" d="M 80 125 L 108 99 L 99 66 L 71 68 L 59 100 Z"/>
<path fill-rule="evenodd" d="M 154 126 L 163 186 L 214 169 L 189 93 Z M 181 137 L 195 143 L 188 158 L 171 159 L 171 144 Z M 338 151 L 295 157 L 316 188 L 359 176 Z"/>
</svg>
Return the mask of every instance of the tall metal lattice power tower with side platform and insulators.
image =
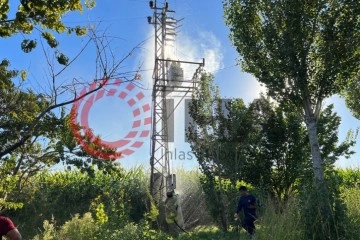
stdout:
<svg viewBox="0 0 360 240">
<path fill-rule="evenodd" d="M 170 172 L 168 156 L 168 126 L 167 118 L 169 114 L 167 109 L 167 95 L 169 93 L 192 92 L 196 87 L 196 79 L 204 66 L 204 60 L 201 63 L 178 61 L 168 58 L 166 54 L 167 45 L 175 40 L 178 22 L 173 15 L 175 12 L 169 10 L 167 1 L 162 7 L 157 6 L 157 1 L 150 1 L 150 8 L 154 10 L 153 17 L 148 17 L 148 22 L 155 27 L 155 66 L 153 72 L 153 91 L 152 91 L 152 134 L 151 134 L 151 176 L 150 191 L 157 204 L 164 199 L 166 191 L 175 189 L 175 176 Z M 180 64 L 196 64 L 193 78 L 184 80 L 181 78 L 169 79 L 169 66 Z M 166 191 L 165 191 L 166 190 Z"/>
</svg>

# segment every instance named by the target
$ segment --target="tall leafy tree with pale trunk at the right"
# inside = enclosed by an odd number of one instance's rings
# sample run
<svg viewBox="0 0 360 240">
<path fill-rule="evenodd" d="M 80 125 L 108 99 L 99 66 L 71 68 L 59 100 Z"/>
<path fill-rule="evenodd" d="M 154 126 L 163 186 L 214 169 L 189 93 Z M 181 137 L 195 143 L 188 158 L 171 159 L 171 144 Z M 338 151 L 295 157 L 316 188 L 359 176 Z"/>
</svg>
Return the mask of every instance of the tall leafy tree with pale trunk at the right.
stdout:
<svg viewBox="0 0 360 240">
<path fill-rule="evenodd" d="M 323 100 L 359 79 L 360 2 L 226 0 L 224 8 L 243 69 L 265 84 L 269 96 L 304 116 L 315 187 L 324 196 L 314 200 L 328 227 L 332 193 L 326 186 L 318 120 Z"/>
</svg>

